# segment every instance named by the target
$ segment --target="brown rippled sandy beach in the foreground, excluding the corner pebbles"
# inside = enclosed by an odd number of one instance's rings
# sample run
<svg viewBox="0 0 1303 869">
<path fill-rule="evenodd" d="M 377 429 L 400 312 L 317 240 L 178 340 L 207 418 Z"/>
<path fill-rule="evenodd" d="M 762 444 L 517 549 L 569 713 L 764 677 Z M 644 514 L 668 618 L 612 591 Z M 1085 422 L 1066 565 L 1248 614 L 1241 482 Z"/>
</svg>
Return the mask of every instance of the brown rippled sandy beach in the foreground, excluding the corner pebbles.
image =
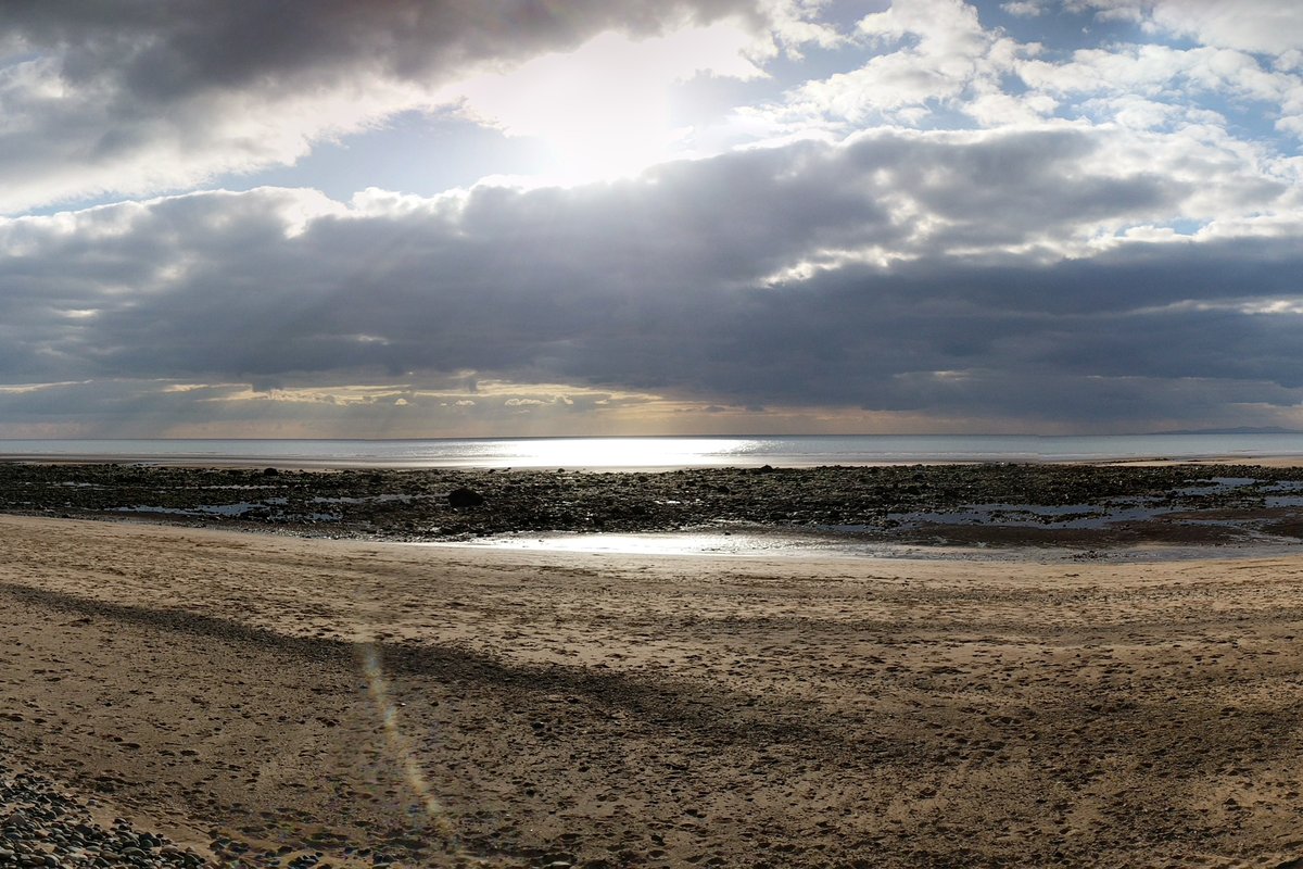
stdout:
<svg viewBox="0 0 1303 869">
<path fill-rule="evenodd" d="M 0 756 L 242 865 L 1303 865 L 1303 558 L 0 551 Z"/>
</svg>

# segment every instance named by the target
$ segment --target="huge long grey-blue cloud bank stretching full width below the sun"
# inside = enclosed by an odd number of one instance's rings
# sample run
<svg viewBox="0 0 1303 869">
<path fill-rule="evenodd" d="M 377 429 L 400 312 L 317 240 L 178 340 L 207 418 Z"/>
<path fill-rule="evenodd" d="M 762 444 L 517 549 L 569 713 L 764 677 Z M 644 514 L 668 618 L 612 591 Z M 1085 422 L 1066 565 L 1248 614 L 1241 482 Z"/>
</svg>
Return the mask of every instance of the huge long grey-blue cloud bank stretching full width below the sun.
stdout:
<svg viewBox="0 0 1303 869">
<path fill-rule="evenodd" d="M 0 375 L 476 371 L 1100 426 L 1298 404 L 1300 317 L 1255 313 L 1296 298 L 1293 240 L 1006 253 L 1070 235 L 1081 212 L 1143 223 L 1197 193 L 1143 169 L 1080 171 L 1096 147 L 1063 130 L 882 133 L 573 189 L 348 208 L 267 189 L 10 221 Z M 1037 194 L 1052 178 L 1058 195 Z M 298 225 L 305 211 L 317 216 Z M 876 249 L 891 257 L 856 258 Z M 814 267 L 792 278 L 803 262 Z"/>
</svg>

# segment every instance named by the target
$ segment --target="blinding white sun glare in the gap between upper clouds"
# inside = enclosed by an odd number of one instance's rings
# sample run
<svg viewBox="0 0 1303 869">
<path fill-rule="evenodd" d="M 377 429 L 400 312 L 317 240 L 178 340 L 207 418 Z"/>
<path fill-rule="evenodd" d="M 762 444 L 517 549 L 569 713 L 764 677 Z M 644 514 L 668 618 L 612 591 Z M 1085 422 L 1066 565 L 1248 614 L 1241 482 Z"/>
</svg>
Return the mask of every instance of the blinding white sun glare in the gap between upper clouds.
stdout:
<svg viewBox="0 0 1303 869">
<path fill-rule="evenodd" d="M 486 126 L 539 139 L 550 154 L 546 181 L 607 180 L 693 155 L 692 128 L 674 122 L 676 86 L 698 74 L 764 76 L 747 57 L 754 40 L 730 21 L 640 40 L 605 33 L 446 95 Z"/>
</svg>

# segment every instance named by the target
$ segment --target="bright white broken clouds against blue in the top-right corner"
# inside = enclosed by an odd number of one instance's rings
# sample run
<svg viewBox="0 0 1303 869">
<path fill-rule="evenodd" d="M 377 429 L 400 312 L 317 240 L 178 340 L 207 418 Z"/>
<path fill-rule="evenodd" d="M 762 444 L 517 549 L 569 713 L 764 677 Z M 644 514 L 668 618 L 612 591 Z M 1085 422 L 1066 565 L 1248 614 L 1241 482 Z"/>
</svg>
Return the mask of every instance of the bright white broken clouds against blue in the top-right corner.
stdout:
<svg viewBox="0 0 1303 869">
<path fill-rule="evenodd" d="M 962 0 L 900 0 L 865 16 L 859 39 L 873 50 L 859 68 L 816 78 L 752 115 L 771 129 L 848 129 L 890 122 L 924 129 L 1033 125 L 1048 119 L 1121 120 L 1169 126 L 1230 126 L 1224 115 L 1252 107 L 1286 134 L 1303 130 L 1303 38 L 1296 25 L 1269 38 L 1270 14 L 1237 17 L 1225 4 L 1139 0 L 1076 0 L 1065 9 L 1105 21 L 1135 21 L 1144 29 L 1195 39 L 1196 46 L 1141 42 L 1095 44 L 1062 51 L 1023 43 L 988 27 L 975 5 Z M 1005 4 L 1010 14 L 1040 16 L 1044 4 Z M 1061 12 L 1059 8 L 1053 8 Z M 1269 55 L 1263 57 L 1260 55 Z M 1148 109 L 1136 113 L 1144 99 Z M 1238 122 L 1246 122 L 1237 117 Z"/>
</svg>

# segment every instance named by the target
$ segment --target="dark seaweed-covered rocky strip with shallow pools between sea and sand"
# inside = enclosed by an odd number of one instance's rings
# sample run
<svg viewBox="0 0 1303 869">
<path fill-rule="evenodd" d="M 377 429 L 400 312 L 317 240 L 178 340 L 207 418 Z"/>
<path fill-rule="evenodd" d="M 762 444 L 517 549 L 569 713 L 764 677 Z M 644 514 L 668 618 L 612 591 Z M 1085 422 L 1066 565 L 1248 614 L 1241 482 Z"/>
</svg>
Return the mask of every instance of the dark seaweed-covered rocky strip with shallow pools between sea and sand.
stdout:
<svg viewBox="0 0 1303 869">
<path fill-rule="evenodd" d="M 459 541 L 739 525 L 919 545 L 1294 543 L 1303 468 L 912 465 L 296 470 L 3 464 L 0 512 Z"/>
</svg>

